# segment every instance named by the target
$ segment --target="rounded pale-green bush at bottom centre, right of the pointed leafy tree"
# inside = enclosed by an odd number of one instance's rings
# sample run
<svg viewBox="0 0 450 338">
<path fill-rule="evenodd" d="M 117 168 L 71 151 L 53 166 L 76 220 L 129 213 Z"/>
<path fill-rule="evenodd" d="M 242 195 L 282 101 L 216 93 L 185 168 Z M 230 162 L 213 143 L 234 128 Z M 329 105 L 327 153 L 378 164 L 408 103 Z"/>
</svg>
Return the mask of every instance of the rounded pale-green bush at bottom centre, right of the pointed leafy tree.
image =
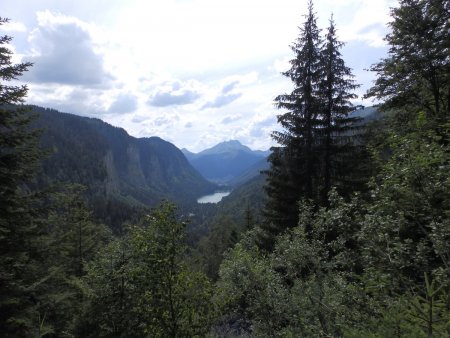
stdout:
<svg viewBox="0 0 450 338">
<path fill-rule="evenodd" d="M 280 277 L 258 248 L 237 244 L 227 253 L 216 285 L 214 301 L 222 314 L 216 333 L 277 336 L 286 318 L 287 296 Z"/>
</svg>

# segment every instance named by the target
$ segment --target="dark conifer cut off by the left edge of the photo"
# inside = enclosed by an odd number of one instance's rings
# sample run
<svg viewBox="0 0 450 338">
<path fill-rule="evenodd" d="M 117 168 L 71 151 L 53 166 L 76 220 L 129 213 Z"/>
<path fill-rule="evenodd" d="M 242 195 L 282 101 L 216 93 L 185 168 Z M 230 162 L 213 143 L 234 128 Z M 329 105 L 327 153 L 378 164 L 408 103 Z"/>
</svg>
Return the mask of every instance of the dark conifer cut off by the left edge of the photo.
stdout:
<svg viewBox="0 0 450 338">
<path fill-rule="evenodd" d="M 8 19 L 0 18 L 0 25 Z M 26 85 L 11 84 L 31 66 L 12 63 L 9 36 L 0 37 L 0 332 L 3 337 L 31 336 L 40 256 L 38 198 L 25 188 L 41 156 L 38 132 L 21 105 Z M 36 320 L 33 323 L 33 320 Z"/>
</svg>

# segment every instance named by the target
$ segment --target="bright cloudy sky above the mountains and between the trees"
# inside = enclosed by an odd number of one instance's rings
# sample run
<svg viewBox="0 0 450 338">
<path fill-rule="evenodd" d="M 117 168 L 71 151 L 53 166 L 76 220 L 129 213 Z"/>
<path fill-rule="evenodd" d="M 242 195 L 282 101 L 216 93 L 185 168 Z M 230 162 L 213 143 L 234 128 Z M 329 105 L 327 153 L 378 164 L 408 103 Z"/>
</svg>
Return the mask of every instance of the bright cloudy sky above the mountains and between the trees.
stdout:
<svg viewBox="0 0 450 338">
<path fill-rule="evenodd" d="M 361 84 L 386 55 L 394 0 L 315 0 L 331 15 L 346 64 Z M 26 102 L 100 118 L 135 137 L 159 136 L 198 152 L 239 140 L 274 145 L 274 98 L 292 91 L 289 68 L 307 0 L 2 0 Z"/>
</svg>

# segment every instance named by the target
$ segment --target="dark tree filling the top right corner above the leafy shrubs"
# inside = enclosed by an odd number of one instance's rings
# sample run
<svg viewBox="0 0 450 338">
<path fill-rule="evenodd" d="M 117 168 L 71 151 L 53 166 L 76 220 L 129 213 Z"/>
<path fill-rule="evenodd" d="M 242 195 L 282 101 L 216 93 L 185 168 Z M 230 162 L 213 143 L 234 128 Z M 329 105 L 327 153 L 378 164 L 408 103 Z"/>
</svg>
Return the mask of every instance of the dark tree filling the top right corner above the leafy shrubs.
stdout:
<svg viewBox="0 0 450 338">
<path fill-rule="evenodd" d="M 371 67 L 378 78 L 367 97 L 408 112 L 407 121 L 419 111 L 438 123 L 449 118 L 449 13 L 449 0 L 401 0 L 392 9 L 389 53 Z"/>
</svg>

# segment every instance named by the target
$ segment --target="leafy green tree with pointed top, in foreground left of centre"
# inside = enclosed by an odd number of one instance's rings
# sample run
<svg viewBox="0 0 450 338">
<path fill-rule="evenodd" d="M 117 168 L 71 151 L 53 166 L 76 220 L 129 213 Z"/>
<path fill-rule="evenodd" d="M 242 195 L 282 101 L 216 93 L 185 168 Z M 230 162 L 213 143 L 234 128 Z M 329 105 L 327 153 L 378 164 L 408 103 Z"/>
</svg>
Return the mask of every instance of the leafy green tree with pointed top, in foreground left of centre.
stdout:
<svg viewBox="0 0 450 338">
<path fill-rule="evenodd" d="M 163 203 L 102 250 L 89 267 L 90 306 L 80 327 L 90 327 L 90 336 L 204 335 L 212 289 L 184 263 L 184 227 L 174 206 Z"/>
</svg>

